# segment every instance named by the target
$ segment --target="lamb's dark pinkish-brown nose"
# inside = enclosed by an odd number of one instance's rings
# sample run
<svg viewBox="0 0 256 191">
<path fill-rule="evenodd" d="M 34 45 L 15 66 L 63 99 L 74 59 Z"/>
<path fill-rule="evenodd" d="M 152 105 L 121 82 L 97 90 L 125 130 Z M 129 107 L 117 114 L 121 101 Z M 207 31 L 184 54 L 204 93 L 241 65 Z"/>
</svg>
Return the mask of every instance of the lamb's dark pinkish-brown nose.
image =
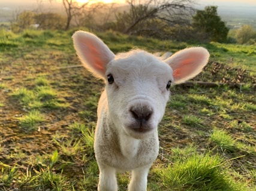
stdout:
<svg viewBox="0 0 256 191">
<path fill-rule="evenodd" d="M 132 117 L 140 121 L 141 124 L 147 122 L 153 113 L 152 109 L 148 106 L 134 106 L 131 107 L 129 112 L 131 112 Z"/>
</svg>

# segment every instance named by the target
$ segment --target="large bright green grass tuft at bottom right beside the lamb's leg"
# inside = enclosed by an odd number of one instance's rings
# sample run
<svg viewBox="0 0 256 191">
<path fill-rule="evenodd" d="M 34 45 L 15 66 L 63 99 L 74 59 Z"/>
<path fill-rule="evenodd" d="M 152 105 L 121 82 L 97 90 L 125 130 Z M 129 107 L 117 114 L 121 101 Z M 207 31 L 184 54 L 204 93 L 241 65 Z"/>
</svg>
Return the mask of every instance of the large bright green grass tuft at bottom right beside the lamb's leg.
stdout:
<svg viewBox="0 0 256 191">
<path fill-rule="evenodd" d="M 194 154 L 156 171 L 165 189 L 177 191 L 236 190 L 219 155 Z M 240 188 L 242 191 L 243 188 Z"/>
</svg>

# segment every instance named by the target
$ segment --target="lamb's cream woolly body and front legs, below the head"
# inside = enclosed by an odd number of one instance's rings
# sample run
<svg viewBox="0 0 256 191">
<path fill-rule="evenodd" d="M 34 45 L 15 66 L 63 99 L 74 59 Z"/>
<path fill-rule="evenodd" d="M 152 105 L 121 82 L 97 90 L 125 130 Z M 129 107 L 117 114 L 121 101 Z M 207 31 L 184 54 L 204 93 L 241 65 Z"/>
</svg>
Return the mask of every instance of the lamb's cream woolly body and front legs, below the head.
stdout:
<svg viewBox="0 0 256 191">
<path fill-rule="evenodd" d="M 109 118 L 106 90 L 101 94 L 95 131 L 95 156 L 100 168 L 98 190 L 117 190 L 116 171 L 133 171 L 129 190 L 146 190 L 147 173 L 158 155 L 157 131 L 145 139 L 120 134 Z M 142 184 L 141 184 L 142 183 Z"/>
</svg>

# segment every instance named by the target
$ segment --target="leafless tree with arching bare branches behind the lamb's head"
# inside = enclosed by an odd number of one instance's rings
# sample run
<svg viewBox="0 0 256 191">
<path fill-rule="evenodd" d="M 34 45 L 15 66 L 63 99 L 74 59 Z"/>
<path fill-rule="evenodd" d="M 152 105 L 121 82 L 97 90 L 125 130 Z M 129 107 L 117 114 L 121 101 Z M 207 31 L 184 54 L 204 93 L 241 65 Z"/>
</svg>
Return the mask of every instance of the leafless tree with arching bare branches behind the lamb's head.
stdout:
<svg viewBox="0 0 256 191">
<path fill-rule="evenodd" d="M 171 26 L 189 24 L 192 0 L 127 0 L 129 11 L 116 14 L 116 29 L 129 34 L 171 38 Z"/>
</svg>

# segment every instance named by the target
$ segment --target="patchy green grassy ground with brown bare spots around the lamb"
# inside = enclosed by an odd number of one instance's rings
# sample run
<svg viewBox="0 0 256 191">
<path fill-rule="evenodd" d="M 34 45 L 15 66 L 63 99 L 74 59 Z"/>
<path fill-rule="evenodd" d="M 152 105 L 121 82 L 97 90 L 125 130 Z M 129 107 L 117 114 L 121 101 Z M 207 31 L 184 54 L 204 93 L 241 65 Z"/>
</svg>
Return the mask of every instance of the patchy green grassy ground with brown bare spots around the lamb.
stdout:
<svg viewBox="0 0 256 191">
<path fill-rule="evenodd" d="M 80 64 L 73 32 L 0 32 L 0 190 L 97 190 L 93 145 L 103 82 L 82 67 L 68 67 Z M 97 35 L 115 53 L 198 46 L 116 32 Z M 254 47 L 200 45 L 210 60 L 256 75 Z M 212 78 L 205 73 L 199 79 Z M 171 92 L 148 190 L 254 191 L 255 88 L 177 85 Z M 129 175 L 118 174 L 119 190 L 127 190 Z"/>
</svg>

